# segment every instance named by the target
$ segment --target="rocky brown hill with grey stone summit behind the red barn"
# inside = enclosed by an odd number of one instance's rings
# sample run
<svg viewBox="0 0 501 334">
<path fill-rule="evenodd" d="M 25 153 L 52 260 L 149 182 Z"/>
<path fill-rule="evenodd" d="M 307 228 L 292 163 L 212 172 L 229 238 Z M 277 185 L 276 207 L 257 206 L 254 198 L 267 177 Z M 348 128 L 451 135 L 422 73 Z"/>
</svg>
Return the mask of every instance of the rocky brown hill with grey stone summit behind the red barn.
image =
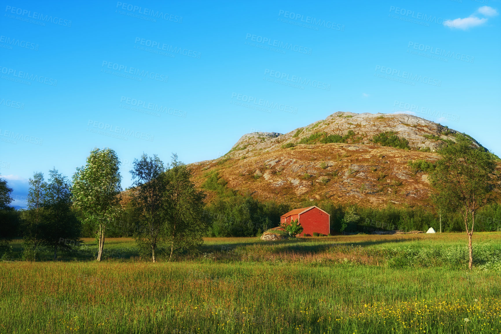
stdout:
<svg viewBox="0 0 501 334">
<path fill-rule="evenodd" d="M 409 160 L 432 163 L 455 133 L 413 115 L 337 112 L 286 134 L 243 135 L 224 156 L 189 167 L 199 187 L 217 172 L 229 188 L 261 200 L 427 206 L 427 174 Z"/>
</svg>

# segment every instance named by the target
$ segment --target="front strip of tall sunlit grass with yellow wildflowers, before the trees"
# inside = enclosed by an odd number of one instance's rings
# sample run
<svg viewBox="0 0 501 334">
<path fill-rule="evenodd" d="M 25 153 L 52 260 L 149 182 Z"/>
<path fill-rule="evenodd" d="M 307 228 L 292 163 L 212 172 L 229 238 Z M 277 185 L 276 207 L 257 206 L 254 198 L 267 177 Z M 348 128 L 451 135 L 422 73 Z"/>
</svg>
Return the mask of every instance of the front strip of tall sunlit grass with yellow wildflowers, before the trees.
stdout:
<svg viewBox="0 0 501 334">
<path fill-rule="evenodd" d="M 498 274 L 257 263 L 0 264 L 0 332 L 501 330 Z"/>
</svg>

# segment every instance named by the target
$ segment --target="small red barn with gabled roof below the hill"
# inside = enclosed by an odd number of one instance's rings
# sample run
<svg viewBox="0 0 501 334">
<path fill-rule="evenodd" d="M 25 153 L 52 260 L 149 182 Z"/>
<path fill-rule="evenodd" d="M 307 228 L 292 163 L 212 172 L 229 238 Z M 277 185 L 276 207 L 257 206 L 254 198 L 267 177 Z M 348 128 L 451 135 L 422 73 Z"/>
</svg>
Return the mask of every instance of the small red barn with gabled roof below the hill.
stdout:
<svg viewBox="0 0 501 334">
<path fill-rule="evenodd" d="M 299 219 L 299 223 L 303 226 L 303 232 L 300 235 L 312 236 L 313 232 L 322 234 L 331 232 L 329 214 L 317 206 L 289 211 L 280 217 L 280 223 L 290 223 L 291 220 L 296 219 Z"/>
</svg>

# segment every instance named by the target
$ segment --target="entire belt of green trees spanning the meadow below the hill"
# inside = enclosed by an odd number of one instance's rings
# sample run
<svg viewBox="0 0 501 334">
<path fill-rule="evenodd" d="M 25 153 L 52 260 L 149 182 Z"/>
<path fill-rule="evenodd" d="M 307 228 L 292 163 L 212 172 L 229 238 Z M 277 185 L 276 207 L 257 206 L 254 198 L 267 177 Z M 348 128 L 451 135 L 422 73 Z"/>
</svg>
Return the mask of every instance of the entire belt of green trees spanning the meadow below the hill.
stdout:
<svg viewBox="0 0 501 334">
<path fill-rule="evenodd" d="M 501 225 L 497 192 L 499 159 L 469 138 L 457 134 L 444 140 L 440 159 L 429 168 L 434 210 L 388 206 L 384 209 L 343 207 L 332 201 L 305 201 L 331 215 L 331 232 L 371 232 L 377 229 L 465 231 L 471 256 L 473 229 L 495 231 Z M 190 181 L 191 172 L 177 156 L 170 164 L 143 154 L 135 159 L 134 187 L 121 194 L 120 162 L 109 149 L 91 151 L 85 166 L 77 168 L 72 182 L 55 168 L 48 182 L 42 173 L 30 178 L 28 208 L 9 207 L 12 189 L 0 179 L 0 246 L 16 234 L 16 219 L 23 235 L 25 257 L 35 258 L 40 246 L 71 248 L 81 236 L 95 235 L 97 260 L 102 259 L 105 236 L 133 236 L 144 257 L 169 259 L 176 252 L 194 251 L 202 236 L 256 236 L 278 225 L 292 207 L 275 201 L 261 202 L 250 192 L 230 189 L 217 172 L 208 175 L 202 189 L 215 193 L 204 204 L 205 193 Z M 126 197 L 126 198 L 124 198 Z M 470 266 L 472 259 L 470 257 Z"/>
</svg>

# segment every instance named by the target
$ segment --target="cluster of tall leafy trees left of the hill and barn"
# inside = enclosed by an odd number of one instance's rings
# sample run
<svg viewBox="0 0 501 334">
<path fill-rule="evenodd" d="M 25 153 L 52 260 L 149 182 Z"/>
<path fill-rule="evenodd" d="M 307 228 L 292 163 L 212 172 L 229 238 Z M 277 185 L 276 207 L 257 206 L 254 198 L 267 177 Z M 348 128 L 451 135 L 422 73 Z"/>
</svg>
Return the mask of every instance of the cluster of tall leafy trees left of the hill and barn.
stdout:
<svg viewBox="0 0 501 334">
<path fill-rule="evenodd" d="M 132 236 L 140 254 L 153 262 L 159 252 L 171 259 L 176 252 L 196 250 L 205 230 L 205 194 L 195 188 L 191 172 L 177 155 L 172 155 L 170 164 L 156 155 L 135 159 L 134 188 L 125 195 L 119 167 L 114 150 L 95 148 L 86 164 L 77 168 L 72 182 L 55 168 L 49 171 L 47 182 L 43 173 L 36 172 L 29 179 L 27 208 L 17 215 L 9 206 L 13 189 L 0 179 L 0 246 L 5 248 L 19 231 L 24 259 L 36 260 L 41 247 L 49 247 L 56 260 L 58 250 L 80 244 L 86 229 L 96 237 L 96 259 L 101 261 L 107 228 L 129 215 L 134 217 Z M 122 205 L 123 200 L 128 204 Z"/>
</svg>

